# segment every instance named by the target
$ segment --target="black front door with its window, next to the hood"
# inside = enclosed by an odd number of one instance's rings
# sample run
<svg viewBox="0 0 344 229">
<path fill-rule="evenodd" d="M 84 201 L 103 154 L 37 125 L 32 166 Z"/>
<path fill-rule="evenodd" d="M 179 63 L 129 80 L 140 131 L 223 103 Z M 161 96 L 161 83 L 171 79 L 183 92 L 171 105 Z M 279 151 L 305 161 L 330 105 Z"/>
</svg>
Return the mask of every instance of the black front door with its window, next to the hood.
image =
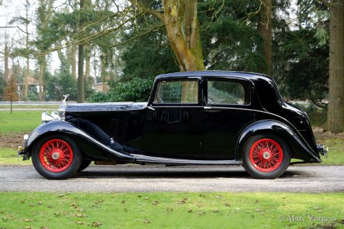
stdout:
<svg viewBox="0 0 344 229">
<path fill-rule="evenodd" d="M 201 159 L 203 106 L 199 77 L 161 79 L 141 132 L 143 155 Z"/>
</svg>

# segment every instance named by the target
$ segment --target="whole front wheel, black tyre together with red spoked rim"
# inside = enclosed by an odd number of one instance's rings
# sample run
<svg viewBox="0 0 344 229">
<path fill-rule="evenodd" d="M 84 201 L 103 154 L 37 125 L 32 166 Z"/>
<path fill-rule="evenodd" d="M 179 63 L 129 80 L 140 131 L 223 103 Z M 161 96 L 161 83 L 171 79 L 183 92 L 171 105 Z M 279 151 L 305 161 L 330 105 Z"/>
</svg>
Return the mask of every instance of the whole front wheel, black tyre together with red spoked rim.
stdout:
<svg viewBox="0 0 344 229">
<path fill-rule="evenodd" d="M 56 145 L 56 143 L 59 145 Z M 52 147 L 54 149 L 50 150 L 51 147 L 47 147 L 49 144 L 55 144 L 56 147 Z M 61 147 L 61 144 L 63 148 Z M 63 152 L 58 151 L 58 147 L 61 147 Z M 54 150 L 56 150 L 56 152 L 54 152 Z M 75 141 L 62 134 L 52 134 L 40 139 L 33 146 L 31 157 L 33 166 L 36 168 L 36 171 L 42 175 L 42 177 L 56 180 L 67 179 L 74 175 L 80 168 L 82 160 L 81 151 Z M 54 159 L 54 157 L 56 157 L 56 159 Z M 59 159 L 62 161 L 58 162 Z M 52 163 L 49 161 L 52 161 Z M 53 163 L 56 163 L 57 166 L 54 166 Z M 58 166 L 61 166 L 61 168 L 58 168 Z"/>
</svg>

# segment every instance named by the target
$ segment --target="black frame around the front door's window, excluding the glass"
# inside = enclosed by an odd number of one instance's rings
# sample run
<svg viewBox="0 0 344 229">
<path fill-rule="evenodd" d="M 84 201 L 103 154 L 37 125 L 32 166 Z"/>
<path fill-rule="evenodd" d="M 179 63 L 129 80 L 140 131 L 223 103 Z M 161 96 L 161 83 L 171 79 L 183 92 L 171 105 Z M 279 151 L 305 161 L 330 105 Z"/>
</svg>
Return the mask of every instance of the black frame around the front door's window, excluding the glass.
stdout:
<svg viewBox="0 0 344 229">
<path fill-rule="evenodd" d="M 198 101 L 196 103 L 155 103 L 155 95 L 157 94 L 157 86 L 161 81 L 183 81 L 183 80 L 191 80 L 196 81 L 198 86 Z M 154 93 L 154 94 L 153 94 Z M 201 88 L 201 77 L 164 77 L 161 79 L 155 80 L 153 93 L 150 96 L 149 106 L 201 106 L 201 95 L 202 95 L 202 88 Z"/>
</svg>

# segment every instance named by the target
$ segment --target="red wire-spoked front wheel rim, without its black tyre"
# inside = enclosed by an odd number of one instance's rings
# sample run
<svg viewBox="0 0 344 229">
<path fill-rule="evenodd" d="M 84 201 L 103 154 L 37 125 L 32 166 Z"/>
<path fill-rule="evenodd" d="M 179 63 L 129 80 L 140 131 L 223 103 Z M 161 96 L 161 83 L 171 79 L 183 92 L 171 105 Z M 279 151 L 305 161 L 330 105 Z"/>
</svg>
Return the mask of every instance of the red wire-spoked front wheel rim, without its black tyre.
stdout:
<svg viewBox="0 0 344 229">
<path fill-rule="evenodd" d="M 73 151 L 70 145 L 61 139 L 47 141 L 40 148 L 40 163 L 48 171 L 60 173 L 72 164 Z"/>
</svg>

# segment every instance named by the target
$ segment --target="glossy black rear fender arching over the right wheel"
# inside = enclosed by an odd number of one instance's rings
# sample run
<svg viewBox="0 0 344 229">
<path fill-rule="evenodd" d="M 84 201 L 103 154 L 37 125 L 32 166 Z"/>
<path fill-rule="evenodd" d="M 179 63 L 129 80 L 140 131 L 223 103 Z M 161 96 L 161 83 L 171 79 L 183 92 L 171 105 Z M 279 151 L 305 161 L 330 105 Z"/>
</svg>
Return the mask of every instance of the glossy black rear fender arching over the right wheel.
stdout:
<svg viewBox="0 0 344 229">
<path fill-rule="evenodd" d="M 236 157 L 242 159 L 244 143 L 249 137 L 257 134 L 275 134 L 280 136 L 292 151 L 292 158 L 303 159 L 309 162 L 322 162 L 320 155 L 314 152 L 311 147 L 304 141 L 302 136 L 295 133 L 288 125 L 276 120 L 259 120 L 246 127 L 237 140 Z"/>
</svg>

